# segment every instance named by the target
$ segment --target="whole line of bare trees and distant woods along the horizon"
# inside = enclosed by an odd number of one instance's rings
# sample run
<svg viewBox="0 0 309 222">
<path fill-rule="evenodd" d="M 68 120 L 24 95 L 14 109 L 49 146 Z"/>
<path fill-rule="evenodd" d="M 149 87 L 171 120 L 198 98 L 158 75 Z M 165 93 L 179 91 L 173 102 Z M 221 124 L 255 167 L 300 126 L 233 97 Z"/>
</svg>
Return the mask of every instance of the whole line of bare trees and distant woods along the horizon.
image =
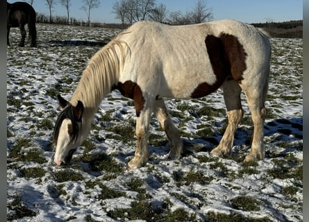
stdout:
<svg viewBox="0 0 309 222">
<path fill-rule="evenodd" d="M 33 4 L 34 0 L 24 0 Z M 42 0 L 40 0 L 42 1 Z M 37 13 L 37 22 L 71 24 L 76 26 L 102 26 L 108 28 L 126 28 L 140 20 L 152 20 L 165 24 L 183 25 L 209 22 L 213 19 L 211 8 L 206 6 L 206 1 L 197 0 L 187 12 L 170 11 L 163 3 L 156 3 L 156 0 L 117 0 L 112 6 L 112 13 L 115 19 L 121 24 L 101 24 L 90 22 L 90 13 L 94 8 L 99 8 L 100 0 L 83 0 L 81 10 L 86 12 L 87 20 L 77 20 L 69 16 L 72 0 L 45 0 L 49 8 L 49 17 L 42 13 Z M 60 3 L 67 10 L 66 16 L 53 16 L 52 8 Z M 302 37 L 303 20 L 290 22 L 273 22 L 267 18 L 265 23 L 253 23 L 253 26 L 264 28 L 272 37 Z"/>
</svg>

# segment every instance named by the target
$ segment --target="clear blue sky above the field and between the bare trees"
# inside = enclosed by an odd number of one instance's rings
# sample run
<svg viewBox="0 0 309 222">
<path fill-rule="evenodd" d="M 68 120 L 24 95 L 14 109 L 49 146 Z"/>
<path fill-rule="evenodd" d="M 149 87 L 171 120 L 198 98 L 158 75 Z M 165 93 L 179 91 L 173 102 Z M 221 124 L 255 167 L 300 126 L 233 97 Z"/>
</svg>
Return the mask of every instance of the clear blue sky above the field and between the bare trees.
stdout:
<svg viewBox="0 0 309 222">
<path fill-rule="evenodd" d="M 9 2 L 12 2 L 8 0 Z M 113 0 L 101 0 L 101 6 L 91 11 L 91 22 L 119 23 L 112 13 Z M 195 0 L 157 0 L 163 3 L 169 11 L 186 12 L 191 10 Z M 72 0 L 70 16 L 86 21 L 86 13 L 81 10 L 82 0 Z M 274 22 L 285 22 L 303 19 L 303 1 L 301 0 L 206 0 L 206 6 L 212 9 L 213 17 L 217 19 L 237 19 L 241 22 L 256 23 L 272 19 Z M 49 15 L 45 0 L 34 0 L 33 7 L 37 12 Z M 53 15 L 66 16 L 64 6 L 57 3 Z"/>
</svg>

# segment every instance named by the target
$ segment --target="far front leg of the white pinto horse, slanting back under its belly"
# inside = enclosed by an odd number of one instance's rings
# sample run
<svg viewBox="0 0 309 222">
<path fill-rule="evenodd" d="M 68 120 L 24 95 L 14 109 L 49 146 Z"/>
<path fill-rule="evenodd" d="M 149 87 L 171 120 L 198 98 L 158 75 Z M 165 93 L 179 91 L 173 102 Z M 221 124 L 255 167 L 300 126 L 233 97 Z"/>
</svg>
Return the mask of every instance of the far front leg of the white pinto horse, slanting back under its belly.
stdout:
<svg viewBox="0 0 309 222">
<path fill-rule="evenodd" d="M 172 123 L 172 119 L 167 112 L 167 108 L 163 99 L 156 100 L 153 111 L 155 112 L 156 117 L 160 122 L 160 126 L 163 130 L 165 130 L 167 138 L 169 139 L 169 158 L 180 158 L 181 153 L 183 153 L 183 142 L 181 137 L 179 137 L 177 128 Z"/>
</svg>

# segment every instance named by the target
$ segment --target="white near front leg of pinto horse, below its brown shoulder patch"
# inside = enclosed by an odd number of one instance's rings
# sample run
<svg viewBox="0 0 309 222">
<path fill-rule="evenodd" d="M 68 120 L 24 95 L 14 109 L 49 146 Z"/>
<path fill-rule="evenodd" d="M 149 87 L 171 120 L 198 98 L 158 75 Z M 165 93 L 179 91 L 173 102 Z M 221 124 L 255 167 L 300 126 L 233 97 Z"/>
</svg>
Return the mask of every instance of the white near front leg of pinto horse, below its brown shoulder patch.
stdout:
<svg viewBox="0 0 309 222">
<path fill-rule="evenodd" d="M 147 141 L 149 138 L 150 114 L 150 108 L 143 108 L 143 110 L 139 114 L 137 114 L 135 129 L 137 137 L 137 147 L 133 159 L 128 162 L 128 169 L 143 167 L 149 159 Z"/>
</svg>

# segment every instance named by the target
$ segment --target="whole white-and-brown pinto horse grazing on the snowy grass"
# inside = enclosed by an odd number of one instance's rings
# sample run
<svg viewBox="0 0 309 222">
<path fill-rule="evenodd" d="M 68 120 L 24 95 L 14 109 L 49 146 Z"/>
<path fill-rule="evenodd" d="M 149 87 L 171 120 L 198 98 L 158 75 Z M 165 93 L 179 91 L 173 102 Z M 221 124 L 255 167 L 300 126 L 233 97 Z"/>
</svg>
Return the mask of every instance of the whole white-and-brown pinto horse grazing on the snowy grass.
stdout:
<svg viewBox="0 0 309 222">
<path fill-rule="evenodd" d="M 113 89 L 135 104 L 137 148 L 128 169 L 142 167 L 149 159 L 151 112 L 167 134 L 169 157 L 179 158 L 183 143 L 164 99 L 197 99 L 219 87 L 223 88 L 228 126 L 211 154 L 231 154 L 243 114 L 243 90 L 254 125 L 245 161 L 262 160 L 270 56 L 267 33 L 234 20 L 186 26 L 137 22 L 92 56 L 69 101 L 58 95 L 63 110 L 53 130 L 54 162 L 60 166 L 72 160 L 90 133 L 99 104 Z"/>
</svg>

